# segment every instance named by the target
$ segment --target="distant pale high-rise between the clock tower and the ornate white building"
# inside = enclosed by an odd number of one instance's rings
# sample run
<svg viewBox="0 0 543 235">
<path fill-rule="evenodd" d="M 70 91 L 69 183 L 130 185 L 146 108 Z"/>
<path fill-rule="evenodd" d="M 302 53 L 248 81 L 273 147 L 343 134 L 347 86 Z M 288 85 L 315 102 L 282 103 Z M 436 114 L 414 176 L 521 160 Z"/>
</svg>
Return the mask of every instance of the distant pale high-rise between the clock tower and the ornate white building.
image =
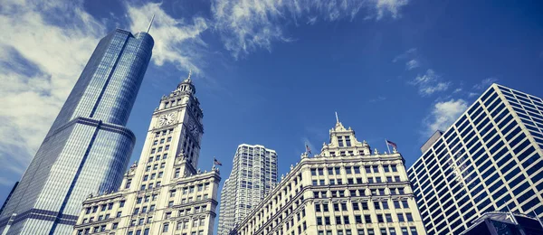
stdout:
<svg viewBox="0 0 543 235">
<path fill-rule="evenodd" d="M 264 146 L 243 144 L 233 155 L 228 183 L 224 183 L 219 211 L 219 235 L 226 235 L 235 223 L 262 202 L 277 183 L 277 154 Z"/>
</svg>

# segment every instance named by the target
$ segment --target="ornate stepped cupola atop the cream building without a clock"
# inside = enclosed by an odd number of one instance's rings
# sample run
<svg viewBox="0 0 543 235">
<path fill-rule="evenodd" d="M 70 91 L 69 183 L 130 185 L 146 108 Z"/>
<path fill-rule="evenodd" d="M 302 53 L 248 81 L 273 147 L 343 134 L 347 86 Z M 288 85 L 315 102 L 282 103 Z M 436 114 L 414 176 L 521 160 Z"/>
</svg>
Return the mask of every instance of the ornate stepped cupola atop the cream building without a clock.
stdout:
<svg viewBox="0 0 543 235">
<path fill-rule="evenodd" d="M 336 126 L 330 129 L 329 144 L 323 143 L 320 155 L 322 156 L 346 156 L 346 155 L 370 155 L 371 149 L 367 142 L 358 142 L 355 131 L 351 127 L 345 128 L 339 122 L 336 113 Z"/>
</svg>

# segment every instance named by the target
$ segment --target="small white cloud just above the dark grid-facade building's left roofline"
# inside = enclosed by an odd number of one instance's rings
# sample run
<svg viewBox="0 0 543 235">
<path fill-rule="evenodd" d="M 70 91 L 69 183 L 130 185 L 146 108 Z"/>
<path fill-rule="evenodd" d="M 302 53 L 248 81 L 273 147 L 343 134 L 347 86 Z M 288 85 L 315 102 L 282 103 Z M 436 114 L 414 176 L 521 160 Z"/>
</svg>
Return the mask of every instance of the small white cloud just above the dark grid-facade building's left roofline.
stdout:
<svg viewBox="0 0 543 235">
<path fill-rule="evenodd" d="M 451 99 L 433 105 L 430 115 L 424 119 L 424 136 L 431 136 L 436 130 L 446 130 L 468 108 L 464 99 Z"/>
</svg>

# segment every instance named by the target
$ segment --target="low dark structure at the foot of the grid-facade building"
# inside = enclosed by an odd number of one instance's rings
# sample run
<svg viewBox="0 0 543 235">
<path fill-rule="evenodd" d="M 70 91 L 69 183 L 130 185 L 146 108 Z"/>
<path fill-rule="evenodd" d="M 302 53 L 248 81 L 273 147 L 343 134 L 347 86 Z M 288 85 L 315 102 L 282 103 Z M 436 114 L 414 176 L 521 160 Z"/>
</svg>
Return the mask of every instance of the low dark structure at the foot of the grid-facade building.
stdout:
<svg viewBox="0 0 543 235">
<path fill-rule="evenodd" d="M 536 217 L 492 211 L 473 221 L 462 235 L 541 235 L 543 224 Z"/>
</svg>

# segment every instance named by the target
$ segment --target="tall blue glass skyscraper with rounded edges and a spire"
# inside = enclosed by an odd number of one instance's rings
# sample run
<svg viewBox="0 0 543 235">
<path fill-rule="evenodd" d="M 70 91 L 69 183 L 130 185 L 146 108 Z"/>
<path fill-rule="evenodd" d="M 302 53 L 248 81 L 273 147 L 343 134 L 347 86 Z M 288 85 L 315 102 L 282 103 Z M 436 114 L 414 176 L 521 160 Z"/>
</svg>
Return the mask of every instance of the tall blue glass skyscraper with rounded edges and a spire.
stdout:
<svg viewBox="0 0 543 235">
<path fill-rule="evenodd" d="M 1 234 L 71 234 L 87 195 L 119 187 L 153 45 L 148 33 L 119 29 L 100 40 L 0 214 Z"/>
</svg>

